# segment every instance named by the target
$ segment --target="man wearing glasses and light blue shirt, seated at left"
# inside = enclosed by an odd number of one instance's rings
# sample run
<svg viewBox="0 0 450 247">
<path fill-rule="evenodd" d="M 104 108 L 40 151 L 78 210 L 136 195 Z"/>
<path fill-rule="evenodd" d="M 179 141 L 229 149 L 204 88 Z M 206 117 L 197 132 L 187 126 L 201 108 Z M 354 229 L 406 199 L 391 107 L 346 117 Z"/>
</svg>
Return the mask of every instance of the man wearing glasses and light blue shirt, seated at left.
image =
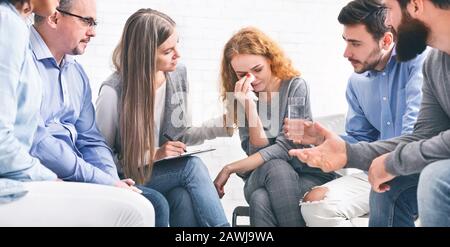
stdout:
<svg viewBox="0 0 450 247">
<path fill-rule="evenodd" d="M 36 17 L 30 42 L 43 81 L 43 122 L 31 154 L 63 180 L 135 189 L 133 181 L 118 177 L 95 123 L 89 79 L 72 57 L 95 37 L 95 16 L 94 0 L 77 0 L 61 1 L 49 19 Z"/>
</svg>

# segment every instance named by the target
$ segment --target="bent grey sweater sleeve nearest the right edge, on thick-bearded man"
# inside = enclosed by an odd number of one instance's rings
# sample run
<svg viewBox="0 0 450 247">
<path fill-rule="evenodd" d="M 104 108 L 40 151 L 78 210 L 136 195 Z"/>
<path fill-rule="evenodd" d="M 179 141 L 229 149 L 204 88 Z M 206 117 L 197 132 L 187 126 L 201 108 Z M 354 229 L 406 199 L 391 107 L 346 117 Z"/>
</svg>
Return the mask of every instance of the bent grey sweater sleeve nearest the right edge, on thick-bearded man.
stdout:
<svg viewBox="0 0 450 247">
<path fill-rule="evenodd" d="M 443 53 L 432 51 L 425 62 L 423 101 L 414 128 L 420 141 L 401 143 L 386 158 L 386 170 L 393 175 L 418 173 L 428 164 L 450 157 L 450 119 L 441 105 L 445 102 L 437 99 L 439 94 L 447 94 L 442 87 L 445 82 L 433 74 L 442 63 L 442 56 Z"/>
</svg>

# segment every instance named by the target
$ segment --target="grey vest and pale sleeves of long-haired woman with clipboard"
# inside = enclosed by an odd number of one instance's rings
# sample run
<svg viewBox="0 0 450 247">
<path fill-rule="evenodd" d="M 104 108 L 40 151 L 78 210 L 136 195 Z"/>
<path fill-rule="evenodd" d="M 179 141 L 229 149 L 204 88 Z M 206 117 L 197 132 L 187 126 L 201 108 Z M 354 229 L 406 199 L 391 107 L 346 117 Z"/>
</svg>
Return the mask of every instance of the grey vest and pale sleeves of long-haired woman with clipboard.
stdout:
<svg viewBox="0 0 450 247">
<path fill-rule="evenodd" d="M 201 144 L 205 140 L 229 136 L 223 127 L 210 127 L 222 126 L 223 116 L 211 119 L 203 123 L 201 127 L 191 126 L 191 115 L 187 107 L 189 90 L 185 66 L 178 65 L 176 71 L 166 74 L 166 78 L 165 109 L 159 133 L 160 144 L 168 141 L 163 136 L 164 133 L 187 145 Z M 122 150 L 119 138 L 121 93 L 122 81 L 119 74 L 114 73 L 101 85 L 96 103 L 98 127 L 115 154 L 119 154 Z"/>
</svg>

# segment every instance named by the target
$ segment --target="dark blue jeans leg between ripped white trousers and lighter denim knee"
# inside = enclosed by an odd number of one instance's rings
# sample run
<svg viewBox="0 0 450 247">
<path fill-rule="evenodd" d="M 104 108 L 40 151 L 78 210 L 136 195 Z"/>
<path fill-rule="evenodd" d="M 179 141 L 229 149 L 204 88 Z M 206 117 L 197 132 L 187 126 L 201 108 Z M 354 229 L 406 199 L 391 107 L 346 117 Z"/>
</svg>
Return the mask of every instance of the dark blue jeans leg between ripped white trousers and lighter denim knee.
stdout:
<svg viewBox="0 0 450 247">
<path fill-rule="evenodd" d="M 400 176 L 388 182 L 389 191 L 371 191 L 369 227 L 414 227 L 418 182 L 419 174 Z"/>
</svg>

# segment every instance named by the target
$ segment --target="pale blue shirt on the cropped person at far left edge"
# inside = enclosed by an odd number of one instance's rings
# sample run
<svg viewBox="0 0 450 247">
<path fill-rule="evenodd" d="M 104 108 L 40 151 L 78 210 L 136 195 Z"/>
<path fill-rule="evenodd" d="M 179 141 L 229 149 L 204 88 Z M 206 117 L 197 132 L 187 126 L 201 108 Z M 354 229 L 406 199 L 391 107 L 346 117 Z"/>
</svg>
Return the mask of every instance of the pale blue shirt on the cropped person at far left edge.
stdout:
<svg viewBox="0 0 450 247">
<path fill-rule="evenodd" d="M 39 118 L 41 81 L 29 46 L 29 28 L 10 3 L 0 3 L 0 191 L 4 179 L 56 180 L 29 152 Z"/>
</svg>

